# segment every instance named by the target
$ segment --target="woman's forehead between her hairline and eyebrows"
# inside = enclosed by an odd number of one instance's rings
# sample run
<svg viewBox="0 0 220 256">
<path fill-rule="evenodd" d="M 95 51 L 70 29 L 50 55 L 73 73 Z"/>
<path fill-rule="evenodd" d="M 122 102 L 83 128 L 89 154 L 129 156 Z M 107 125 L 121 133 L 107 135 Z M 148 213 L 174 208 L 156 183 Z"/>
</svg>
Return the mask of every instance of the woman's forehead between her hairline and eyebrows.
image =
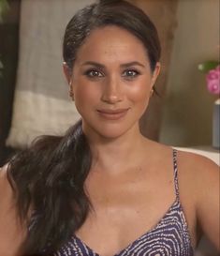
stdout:
<svg viewBox="0 0 220 256">
<path fill-rule="evenodd" d="M 95 29 L 77 53 L 77 62 L 135 61 L 149 62 L 147 50 L 139 38 L 124 28 L 110 25 Z"/>
</svg>

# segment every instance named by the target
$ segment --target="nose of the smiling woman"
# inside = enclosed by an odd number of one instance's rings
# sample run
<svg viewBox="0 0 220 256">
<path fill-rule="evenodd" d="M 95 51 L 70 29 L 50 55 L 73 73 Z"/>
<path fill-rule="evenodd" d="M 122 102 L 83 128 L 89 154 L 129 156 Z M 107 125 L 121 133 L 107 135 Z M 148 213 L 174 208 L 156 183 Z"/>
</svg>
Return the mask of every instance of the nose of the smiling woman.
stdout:
<svg viewBox="0 0 220 256">
<path fill-rule="evenodd" d="M 115 104 L 123 101 L 123 98 L 124 93 L 120 81 L 117 78 L 109 78 L 104 84 L 101 100 L 109 104 Z"/>
</svg>

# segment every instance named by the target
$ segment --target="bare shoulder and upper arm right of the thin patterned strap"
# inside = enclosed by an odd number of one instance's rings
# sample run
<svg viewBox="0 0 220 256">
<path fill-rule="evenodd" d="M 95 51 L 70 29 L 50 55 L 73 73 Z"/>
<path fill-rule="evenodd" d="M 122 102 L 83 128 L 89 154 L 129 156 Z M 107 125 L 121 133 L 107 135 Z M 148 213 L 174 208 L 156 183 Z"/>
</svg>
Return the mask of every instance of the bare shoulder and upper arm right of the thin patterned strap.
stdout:
<svg viewBox="0 0 220 256">
<path fill-rule="evenodd" d="M 198 225 L 215 248 L 220 249 L 219 166 L 209 158 L 181 151 L 178 154 L 178 162 L 183 192 L 188 193 L 188 198 L 194 203 Z"/>
</svg>

